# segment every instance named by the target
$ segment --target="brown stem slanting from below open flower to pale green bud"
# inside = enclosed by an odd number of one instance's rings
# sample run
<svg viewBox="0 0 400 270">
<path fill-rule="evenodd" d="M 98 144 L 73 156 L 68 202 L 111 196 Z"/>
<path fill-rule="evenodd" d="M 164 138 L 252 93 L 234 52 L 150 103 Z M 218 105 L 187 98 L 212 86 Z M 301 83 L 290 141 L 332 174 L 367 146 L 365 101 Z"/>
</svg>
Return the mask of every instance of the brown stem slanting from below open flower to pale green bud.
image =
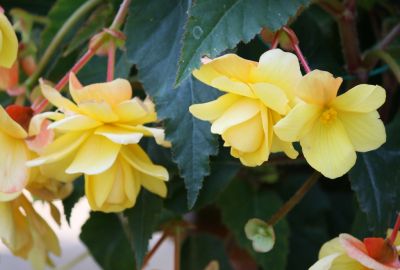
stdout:
<svg viewBox="0 0 400 270">
<path fill-rule="evenodd" d="M 307 192 L 314 186 L 321 174 L 315 171 L 296 191 L 296 193 L 284 204 L 282 207 L 267 221 L 268 225 L 274 226 L 278 221 L 290 212 L 307 194 Z"/>
</svg>

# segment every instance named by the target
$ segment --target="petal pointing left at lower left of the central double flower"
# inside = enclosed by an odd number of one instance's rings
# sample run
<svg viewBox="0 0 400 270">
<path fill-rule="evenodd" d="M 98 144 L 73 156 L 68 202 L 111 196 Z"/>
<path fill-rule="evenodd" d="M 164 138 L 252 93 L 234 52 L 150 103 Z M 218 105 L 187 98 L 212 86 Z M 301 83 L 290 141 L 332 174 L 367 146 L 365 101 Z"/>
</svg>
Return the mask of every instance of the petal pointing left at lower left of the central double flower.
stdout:
<svg viewBox="0 0 400 270">
<path fill-rule="evenodd" d="M 239 98 L 238 95 L 225 94 L 210 102 L 194 104 L 189 107 L 189 111 L 196 118 L 213 122 Z"/>
</svg>

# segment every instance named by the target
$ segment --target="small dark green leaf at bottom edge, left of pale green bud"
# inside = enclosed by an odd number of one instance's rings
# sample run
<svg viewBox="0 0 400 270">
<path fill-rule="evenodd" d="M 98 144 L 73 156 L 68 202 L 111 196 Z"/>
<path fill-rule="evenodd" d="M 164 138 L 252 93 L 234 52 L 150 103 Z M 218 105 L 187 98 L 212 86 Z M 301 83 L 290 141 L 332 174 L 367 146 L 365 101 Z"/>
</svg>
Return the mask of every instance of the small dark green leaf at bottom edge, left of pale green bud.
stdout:
<svg viewBox="0 0 400 270">
<path fill-rule="evenodd" d="M 221 270 L 232 269 L 221 239 L 201 233 L 185 240 L 182 246 L 182 269 L 204 270 L 211 261 L 218 261 Z"/>
</svg>

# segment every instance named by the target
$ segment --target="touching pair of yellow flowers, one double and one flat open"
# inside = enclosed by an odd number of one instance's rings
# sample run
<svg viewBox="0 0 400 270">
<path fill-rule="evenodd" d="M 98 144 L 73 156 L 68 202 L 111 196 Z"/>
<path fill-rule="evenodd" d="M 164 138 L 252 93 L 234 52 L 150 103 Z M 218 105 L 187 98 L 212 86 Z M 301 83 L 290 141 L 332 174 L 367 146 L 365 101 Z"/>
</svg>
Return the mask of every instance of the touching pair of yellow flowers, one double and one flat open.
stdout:
<svg viewBox="0 0 400 270">
<path fill-rule="evenodd" d="M 377 112 L 385 102 L 382 87 L 361 84 L 337 96 L 341 78 L 320 70 L 302 76 L 296 56 L 280 49 L 267 51 L 258 63 L 224 55 L 193 75 L 227 94 L 192 105 L 190 112 L 210 121 L 211 132 L 246 166 L 279 151 L 296 158 L 292 143 L 300 142 L 314 169 L 337 178 L 354 166 L 356 151 L 386 141 Z"/>
</svg>

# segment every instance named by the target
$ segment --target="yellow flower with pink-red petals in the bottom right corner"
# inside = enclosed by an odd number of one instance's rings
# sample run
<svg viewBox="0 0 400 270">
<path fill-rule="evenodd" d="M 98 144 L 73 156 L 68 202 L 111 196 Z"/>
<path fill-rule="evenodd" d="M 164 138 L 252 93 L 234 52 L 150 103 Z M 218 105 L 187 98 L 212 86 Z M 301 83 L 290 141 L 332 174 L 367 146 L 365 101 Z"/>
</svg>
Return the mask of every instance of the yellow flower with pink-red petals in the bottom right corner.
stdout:
<svg viewBox="0 0 400 270">
<path fill-rule="evenodd" d="M 382 239 L 383 240 L 383 239 Z M 365 241 L 364 241 L 365 242 Z M 395 243 L 396 244 L 396 243 Z M 368 247 L 365 243 L 349 234 L 340 234 L 339 237 L 326 242 L 320 252 L 319 261 L 309 270 L 395 270 L 399 269 L 398 258 L 381 260 L 374 258 L 374 246 Z"/>
</svg>

